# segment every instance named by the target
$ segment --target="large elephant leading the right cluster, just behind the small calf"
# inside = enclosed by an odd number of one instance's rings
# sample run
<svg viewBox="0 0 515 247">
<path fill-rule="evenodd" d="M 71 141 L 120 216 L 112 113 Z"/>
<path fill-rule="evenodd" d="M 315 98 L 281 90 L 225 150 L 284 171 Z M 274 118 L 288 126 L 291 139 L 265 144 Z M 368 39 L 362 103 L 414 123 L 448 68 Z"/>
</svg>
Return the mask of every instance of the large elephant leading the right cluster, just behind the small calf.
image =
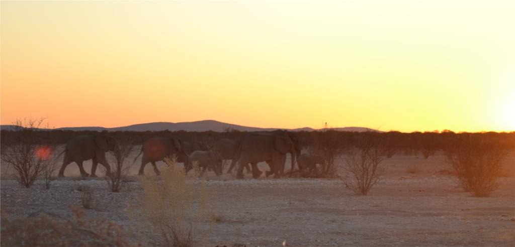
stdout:
<svg viewBox="0 0 515 247">
<path fill-rule="evenodd" d="M 243 167 L 249 163 L 252 165 L 252 177 L 259 178 L 262 172 L 258 169 L 258 163 L 263 161 L 270 166 L 270 172 L 267 172 L 267 175 L 275 174 L 274 178 L 280 178 L 284 175 L 286 153 L 291 154 L 293 170 L 295 158 L 297 153 L 300 153 L 300 149 L 297 150 L 294 140 L 287 131 L 248 134 L 241 140 L 236 155 L 239 161 L 236 178 L 243 178 Z"/>
</svg>

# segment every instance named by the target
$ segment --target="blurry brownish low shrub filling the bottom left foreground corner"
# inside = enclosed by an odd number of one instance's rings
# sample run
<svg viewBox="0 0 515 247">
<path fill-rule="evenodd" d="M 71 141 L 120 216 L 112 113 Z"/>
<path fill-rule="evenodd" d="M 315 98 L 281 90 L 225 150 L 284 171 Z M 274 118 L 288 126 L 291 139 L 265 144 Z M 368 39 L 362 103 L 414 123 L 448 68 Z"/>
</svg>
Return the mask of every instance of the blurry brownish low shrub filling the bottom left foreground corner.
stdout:
<svg viewBox="0 0 515 247">
<path fill-rule="evenodd" d="M 2 215 L 2 246 L 138 246 L 131 244 L 121 226 L 100 219 L 85 219 L 74 208 L 74 219 L 64 220 L 40 214 L 9 219 Z"/>
</svg>

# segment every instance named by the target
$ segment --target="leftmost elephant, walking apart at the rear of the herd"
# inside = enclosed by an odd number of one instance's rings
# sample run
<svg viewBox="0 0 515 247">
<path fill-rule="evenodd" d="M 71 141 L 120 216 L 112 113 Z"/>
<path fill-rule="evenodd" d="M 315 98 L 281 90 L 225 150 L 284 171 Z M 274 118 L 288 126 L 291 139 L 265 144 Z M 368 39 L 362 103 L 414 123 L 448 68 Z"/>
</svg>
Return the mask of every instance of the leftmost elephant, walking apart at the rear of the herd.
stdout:
<svg viewBox="0 0 515 247">
<path fill-rule="evenodd" d="M 88 174 L 82 162 L 93 160 L 91 167 L 91 177 L 96 177 L 96 168 L 98 163 L 106 168 L 107 174 L 111 172 L 111 166 L 106 160 L 106 152 L 119 151 L 119 146 L 112 136 L 108 135 L 80 135 L 76 136 L 66 144 L 64 149 L 64 160 L 59 169 L 59 177 L 64 177 L 64 169 L 72 162 L 79 166 L 82 177 L 88 177 Z"/>
</svg>

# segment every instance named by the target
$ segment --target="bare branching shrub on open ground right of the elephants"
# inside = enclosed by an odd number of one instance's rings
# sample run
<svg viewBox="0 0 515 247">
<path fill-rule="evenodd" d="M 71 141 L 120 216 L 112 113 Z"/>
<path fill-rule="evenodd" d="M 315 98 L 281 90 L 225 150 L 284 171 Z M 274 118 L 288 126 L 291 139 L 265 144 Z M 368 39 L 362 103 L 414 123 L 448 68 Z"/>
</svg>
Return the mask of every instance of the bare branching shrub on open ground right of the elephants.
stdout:
<svg viewBox="0 0 515 247">
<path fill-rule="evenodd" d="M 357 140 L 355 148 L 345 157 L 347 175 L 341 179 L 358 195 L 367 195 L 380 180 L 379 165 L 385 157 L 381 142 L 379 134 L 368 132 Z"/>
</svg>

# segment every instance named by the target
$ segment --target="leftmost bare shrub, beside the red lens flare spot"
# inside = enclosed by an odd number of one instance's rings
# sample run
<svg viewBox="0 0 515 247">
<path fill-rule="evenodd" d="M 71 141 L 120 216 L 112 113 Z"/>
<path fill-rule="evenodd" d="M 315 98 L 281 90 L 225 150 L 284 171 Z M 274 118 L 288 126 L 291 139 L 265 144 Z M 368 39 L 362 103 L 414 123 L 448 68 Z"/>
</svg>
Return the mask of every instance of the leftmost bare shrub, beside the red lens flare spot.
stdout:
<svg viewBox="0 0 515 247">
<path fill-rule="evenodd" d="M 2 143 L 2 161 L 14 169 L 16 181 L 25 188 L 30 188 L 45 171 L 50 177 L 53 170 L 49 166 L 55 170 L 55 162 L 50 158 L 55 145 L 50 141 L 49 131 L 40 129 L 43 121 L 44 118 L 16 120 L 9 142 Z"/>
</svg>

